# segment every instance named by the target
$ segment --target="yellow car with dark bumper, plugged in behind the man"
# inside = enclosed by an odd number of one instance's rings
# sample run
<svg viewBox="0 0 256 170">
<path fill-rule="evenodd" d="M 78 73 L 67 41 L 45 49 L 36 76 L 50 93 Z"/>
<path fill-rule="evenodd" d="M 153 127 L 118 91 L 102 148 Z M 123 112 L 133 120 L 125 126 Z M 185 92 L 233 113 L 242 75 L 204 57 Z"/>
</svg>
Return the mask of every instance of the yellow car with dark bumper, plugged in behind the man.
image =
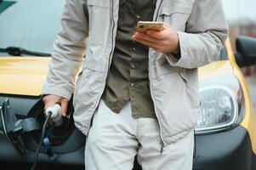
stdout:
<svg viewBox="0 0 256 170">
<path fill-rule="evenodd" d="M 64 1 L 0 0 L 0 168 L 28 169 L 45 117 L 41 90 Z M 256 169 L 256 118 L 240 66 L 256 63 L 256 40 L 230 41 L 219 59 L 199 69 L 201 111 L 195 170 Z M 237 65 L 238 64 L 238 65 Z M 83 169 L 85 136 L 74 127 L 70 102 L 60 127 L 48 129 L 38 167 Z M 141 169 L 134 163 L 134 170 Z"/>
</svg>

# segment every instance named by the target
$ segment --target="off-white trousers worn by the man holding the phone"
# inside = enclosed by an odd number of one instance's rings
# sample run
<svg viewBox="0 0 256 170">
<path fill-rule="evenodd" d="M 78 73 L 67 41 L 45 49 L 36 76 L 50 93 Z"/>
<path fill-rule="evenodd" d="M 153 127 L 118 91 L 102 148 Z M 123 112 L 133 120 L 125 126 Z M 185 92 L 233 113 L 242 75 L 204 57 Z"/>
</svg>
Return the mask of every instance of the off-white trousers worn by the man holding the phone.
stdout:
<svg viewBox="0 0 256 170">
<path fill-rule="evenodd" d="M 163 147 L 156 118 L 132 117 L 128 103 L 120 113 L 100 101 L 85 146 L 86 170 L 132 170 L 134 156 L 143 170 L 191 170 L 194 132 Z"/>
</svg>

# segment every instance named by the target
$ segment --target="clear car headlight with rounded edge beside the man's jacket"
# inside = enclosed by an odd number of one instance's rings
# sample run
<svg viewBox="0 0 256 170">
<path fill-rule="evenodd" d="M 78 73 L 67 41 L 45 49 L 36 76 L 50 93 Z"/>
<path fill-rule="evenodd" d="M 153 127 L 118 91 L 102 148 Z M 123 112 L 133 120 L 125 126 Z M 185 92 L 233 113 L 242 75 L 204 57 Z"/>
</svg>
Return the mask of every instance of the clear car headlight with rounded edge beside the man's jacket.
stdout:
<svg viewBox="0 0 256 170">
<path fill-rule="evenodd" d="M 235 77 L 211 78 L 204 82 L 200 88 L 200 98 L 197 133 L 219 131 L 237 124 L 242 92 Z"/>
</svg>

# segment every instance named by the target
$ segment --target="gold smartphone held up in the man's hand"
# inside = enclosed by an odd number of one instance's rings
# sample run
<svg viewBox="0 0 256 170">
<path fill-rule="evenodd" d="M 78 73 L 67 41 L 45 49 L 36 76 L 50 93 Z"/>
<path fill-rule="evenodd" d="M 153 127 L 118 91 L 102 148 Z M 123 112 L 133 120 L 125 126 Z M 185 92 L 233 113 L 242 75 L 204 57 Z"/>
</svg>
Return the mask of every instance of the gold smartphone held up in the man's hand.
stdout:
<svg viewBox="0 0 256 170">
<path fill-rule="evenodd" d="M 136 31 L 146 32 L 148 30 L 162 31 L 163 22 L 139 21 L 137 23 Z"/>
</svg>

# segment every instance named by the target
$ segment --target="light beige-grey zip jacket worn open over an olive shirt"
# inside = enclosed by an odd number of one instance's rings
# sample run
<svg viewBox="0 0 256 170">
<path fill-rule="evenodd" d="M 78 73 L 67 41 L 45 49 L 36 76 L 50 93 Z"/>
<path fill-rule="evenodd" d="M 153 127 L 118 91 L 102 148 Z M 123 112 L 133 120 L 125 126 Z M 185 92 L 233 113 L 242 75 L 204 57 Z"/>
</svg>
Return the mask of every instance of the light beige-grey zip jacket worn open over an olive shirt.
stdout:
<svg viewBox="0 0 256 170">
<path fill-rule="evenodd" d="M 66 0 L 62 29 L 54 42 L 43 94 L 70 99 L 74 93 L 74 120 L 84 134 L 105 88 L 118 7 L 118 0 Z M 179 60 L 153 49 L 148 56 L 151 96 L 162 144 L 168 145 L 195 127 L 200 105 L 197 67 L 217 59 L 228 28 L 221 0 L 157 0 L 154 20 L 173 26 L 180 43 Z"/>
</svg>

